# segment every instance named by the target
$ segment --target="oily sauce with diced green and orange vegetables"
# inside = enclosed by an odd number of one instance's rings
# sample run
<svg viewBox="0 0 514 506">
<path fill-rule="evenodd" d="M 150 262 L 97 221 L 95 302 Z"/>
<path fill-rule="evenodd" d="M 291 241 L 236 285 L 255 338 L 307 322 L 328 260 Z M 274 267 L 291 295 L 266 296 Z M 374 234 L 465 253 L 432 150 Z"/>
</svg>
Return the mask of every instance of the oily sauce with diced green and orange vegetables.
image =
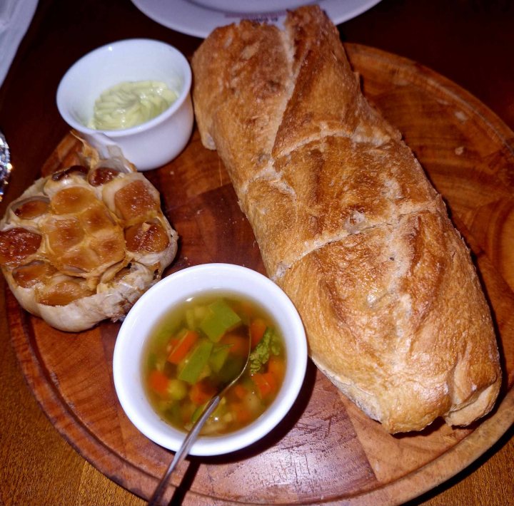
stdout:
<svg viewBox="0 0 514 506">
<path fill-rule="evenodd" d="M 190 430 L 206 403 L 246 371 L 203 425 L 204 435 L 233 432 L 276 398 L 286 372 L 283 338 L 254 301 L 213 292 L 174 306 L 153 329 L 143 353 L 143 383 L 167 423 Z"/>
</svg>

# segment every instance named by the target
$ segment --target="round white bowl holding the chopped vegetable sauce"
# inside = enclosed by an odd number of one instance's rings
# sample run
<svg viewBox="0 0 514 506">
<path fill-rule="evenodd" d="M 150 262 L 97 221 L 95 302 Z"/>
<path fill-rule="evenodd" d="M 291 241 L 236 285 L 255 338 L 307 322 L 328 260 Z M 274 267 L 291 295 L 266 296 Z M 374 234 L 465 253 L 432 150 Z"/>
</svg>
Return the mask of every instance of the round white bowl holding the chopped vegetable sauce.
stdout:
<svg viewBox="0 0 514 506">
<path fill-rule="evenodd" d="M 174 305 L 190 296 L 218 290 L 253 299 L 273 317 L 286 346 L 286 375 L 276 399 L 253 423 L 232 433 L 200 436 L 191 455 L 221 455 L 244 448 L 269 433 L 288 413 L 303 384 L 307 344 L 303 324 L 288 296 L 256 271 L 232 264 L 188 267 L 161 279 L 126 316 L 114 347 L 114 386 L 133 425 L 158 445 L 176 451 L 186 434 L 163 421 L 143 387 L 142 356 L 152 329 Z"/>
</svg>

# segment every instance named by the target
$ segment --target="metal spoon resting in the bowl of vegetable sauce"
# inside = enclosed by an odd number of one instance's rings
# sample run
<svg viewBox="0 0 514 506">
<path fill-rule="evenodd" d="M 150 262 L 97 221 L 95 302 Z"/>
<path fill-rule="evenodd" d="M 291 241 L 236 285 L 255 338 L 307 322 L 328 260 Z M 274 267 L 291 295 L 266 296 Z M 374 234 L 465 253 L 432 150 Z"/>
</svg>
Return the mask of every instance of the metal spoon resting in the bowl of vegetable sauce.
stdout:
<svg viewBox="0 0 514 506">
<path fill-rule="evenodd" d="M 241 371 L 239 371 L 238 375 L 235 378 L 233 378 L 233 380 L 230 383 L 228 383 L 228 385 L 225 386 L 221 390 L 221 392 L 218 393 L 218 395 L 211 398 L 211 401 L 208 401 L 206 407 L 203 408 L 200 418 L 196 420 L 196 423 L 193 425 L 191 430 L 186 435 L 186 438 L 183 440 L 181 447 L 178 448 L 175 457 L 171 461 L 171 464 L 169 465 L 168 469 L 166 470 L 166 473 L 164 473 L 163 477 L 161 477 L 161 481 L 157 485 L 156 490 L 153 492 L 152 496 L 150 497 L 150 500 L 148 501 L 148 506 L 156 506 L 159 504 L 159 500 L 161 499 L 161 495 L 163 494 L 163 491 L 166 488 L 171 473 L 173 473 L 173 470 L 176 468 L 176 466 L 182 462 L 186 455 L 188 455 L 191 446 L 195 442 L 196 438 L 198 437 L 198 434 L 200 433 L 203 427 L 203 424 L 206 423 L 208 417 L 211 416 L 213 411 L 218 407 L 218 404 L 220 403 L 221 399 L 223 398 L 223 396 L 225 396 L 225 394 L 231 388 L 231 386 L 235 385 L 238 379 L 241 378 L 241 376 L 243 376 L 246 366 L 248 366 L 248 361 L 250 360 L 250 351 L 251 339 L 250 336 L 248 336 L 248 354 L 246 356 L 246 362 L 244 363 L 243 368 L 241 369 Z"/>
</svg>

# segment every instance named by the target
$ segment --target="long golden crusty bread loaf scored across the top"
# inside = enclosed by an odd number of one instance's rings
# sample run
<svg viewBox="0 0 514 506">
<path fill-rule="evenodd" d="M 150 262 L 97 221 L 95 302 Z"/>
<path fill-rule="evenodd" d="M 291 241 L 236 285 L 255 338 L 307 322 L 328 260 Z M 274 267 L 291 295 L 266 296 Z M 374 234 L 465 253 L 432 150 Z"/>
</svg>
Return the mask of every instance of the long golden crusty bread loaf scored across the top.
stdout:
<svg viewBox="0 0 514 506">
<path fill-rule="evenodd" d="M 498 348 L 468 249 L 321 9 L 216 29 L 193 73 L 203 144 L 318 368 L 391 433 L 488 413 Z"/>
</svg>

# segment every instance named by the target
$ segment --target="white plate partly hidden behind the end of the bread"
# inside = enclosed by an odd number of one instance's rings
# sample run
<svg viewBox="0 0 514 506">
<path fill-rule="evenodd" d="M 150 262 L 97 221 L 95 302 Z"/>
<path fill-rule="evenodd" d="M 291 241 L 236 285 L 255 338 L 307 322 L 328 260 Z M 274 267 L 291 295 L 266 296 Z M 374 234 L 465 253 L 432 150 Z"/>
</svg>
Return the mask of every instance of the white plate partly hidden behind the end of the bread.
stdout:
<svg viewBox="0 0 514 506">
<path fill-rule="evenodd" d="M 334 24 L 343 23 L 371 9 L 381 0 L 132 0 L 153 21 L 181 33 L 204 38 L 217 26 L 241 19 L 281 25 L 286 9 L 319 4 Z M 256 8 L 258 5 L 258 8 Z M 227 10 L 232 6 L 231 10 Z M 271 9 L 268 9 L 271 7 Z"/>
</svg>

